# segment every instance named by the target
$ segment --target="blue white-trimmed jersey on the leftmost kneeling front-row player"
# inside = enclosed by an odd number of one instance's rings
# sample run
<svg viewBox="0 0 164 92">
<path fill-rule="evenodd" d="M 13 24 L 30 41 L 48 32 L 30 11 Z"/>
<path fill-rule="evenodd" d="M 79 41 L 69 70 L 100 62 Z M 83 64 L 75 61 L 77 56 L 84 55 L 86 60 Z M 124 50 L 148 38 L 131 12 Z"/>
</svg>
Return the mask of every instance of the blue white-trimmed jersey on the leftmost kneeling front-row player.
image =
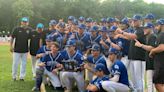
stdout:
<svg viewBox="0 0 164 92">
<path fill-rule="evenodd" d="M 58 52 L 55 56 L 49 53 L 43 57 L 41 62 L 44 62 L 46 65 L 45 68 L 51 72 L 54 68 L 56 68 L 56 64 L 60 63 L 62 59 L 60 52 Z"/>
</svg>

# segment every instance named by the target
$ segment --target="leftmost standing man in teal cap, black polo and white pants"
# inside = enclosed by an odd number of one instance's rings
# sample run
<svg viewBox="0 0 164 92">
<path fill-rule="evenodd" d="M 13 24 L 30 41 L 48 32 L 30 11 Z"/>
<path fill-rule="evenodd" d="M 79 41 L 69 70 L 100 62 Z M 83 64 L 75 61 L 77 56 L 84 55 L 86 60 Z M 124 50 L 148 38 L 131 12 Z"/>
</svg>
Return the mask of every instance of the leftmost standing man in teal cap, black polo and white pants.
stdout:
<svg viewBox="0 0 164 92">
<path fill-rule="evenodd" d="M 27 17 L 21 19 L 21 25 L 14 28 L 11 34 L 10 51 L 13 52 L 13 65 L 12 65 L 12 77 L 13 80 L 17 78 L 17 69 L 19 60 L 21 59 L 20 66 L 20 80 L 24 80 L 26 74 L 26 61 L 28 52 L 28 39 L 31 32 L 31 28 L 28 27 L 29 20 Z M 13 47 L 14 44 L 14 47 Z"/>
</svg>

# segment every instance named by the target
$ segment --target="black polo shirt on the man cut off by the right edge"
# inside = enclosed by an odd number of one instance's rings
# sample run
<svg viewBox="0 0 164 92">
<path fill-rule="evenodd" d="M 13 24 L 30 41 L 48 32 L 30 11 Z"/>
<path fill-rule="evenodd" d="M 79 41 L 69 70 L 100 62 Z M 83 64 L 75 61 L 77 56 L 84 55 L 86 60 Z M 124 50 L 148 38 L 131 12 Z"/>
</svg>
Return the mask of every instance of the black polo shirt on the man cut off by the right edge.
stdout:
<svg viewBox="0 0 164 92">
<path fill-rule="evenodd" d="M 157 46 L 164 44 L 164 32 L 159 33 L 157 36 Z M 154 68 L 164 69 L 164 51 L 155 54 L 154 56 Z"/>
</svg>

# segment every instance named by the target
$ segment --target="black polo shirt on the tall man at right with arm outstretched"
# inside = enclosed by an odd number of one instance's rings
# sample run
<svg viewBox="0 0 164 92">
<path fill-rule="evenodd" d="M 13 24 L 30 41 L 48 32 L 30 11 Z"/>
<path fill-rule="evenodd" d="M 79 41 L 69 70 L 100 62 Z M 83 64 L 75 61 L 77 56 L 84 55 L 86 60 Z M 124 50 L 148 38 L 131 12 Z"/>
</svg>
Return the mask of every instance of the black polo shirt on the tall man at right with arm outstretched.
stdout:
<svg viewBox="0 0 164 92">
<path fill-rule="evenodd" d="M 134 34 L 137 35 L 137 40 L 145 44 L 146 36 L 144 35 L 143 28 L 138 27 L 134 29 Z M 145 61 L 145 50 L 143 50 L 140 47 L 135 46 L 135 40 L 130 41 L 130 47 L 129 47 L 129 53 L 128 53 L 128 59 L 130 60 L 140 60 Z"/>
</svg>

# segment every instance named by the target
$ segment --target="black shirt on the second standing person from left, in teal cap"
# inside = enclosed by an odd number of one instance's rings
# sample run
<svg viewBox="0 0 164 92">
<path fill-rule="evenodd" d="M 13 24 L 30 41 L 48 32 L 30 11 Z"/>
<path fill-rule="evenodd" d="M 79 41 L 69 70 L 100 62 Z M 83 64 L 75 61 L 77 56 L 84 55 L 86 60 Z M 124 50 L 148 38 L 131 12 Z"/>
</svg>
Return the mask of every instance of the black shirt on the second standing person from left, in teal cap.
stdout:
<svg viewBox="0 0 164 92">
<path fill-rule="evenodd" d="M 35 56 L 37 54 L 38 49 L 40 48 L 40 39 L 43 38 L 42 32 L 39 33 L 36 30 L 33 30 L 30 33 L 30 54 Z"/>
</svg>

